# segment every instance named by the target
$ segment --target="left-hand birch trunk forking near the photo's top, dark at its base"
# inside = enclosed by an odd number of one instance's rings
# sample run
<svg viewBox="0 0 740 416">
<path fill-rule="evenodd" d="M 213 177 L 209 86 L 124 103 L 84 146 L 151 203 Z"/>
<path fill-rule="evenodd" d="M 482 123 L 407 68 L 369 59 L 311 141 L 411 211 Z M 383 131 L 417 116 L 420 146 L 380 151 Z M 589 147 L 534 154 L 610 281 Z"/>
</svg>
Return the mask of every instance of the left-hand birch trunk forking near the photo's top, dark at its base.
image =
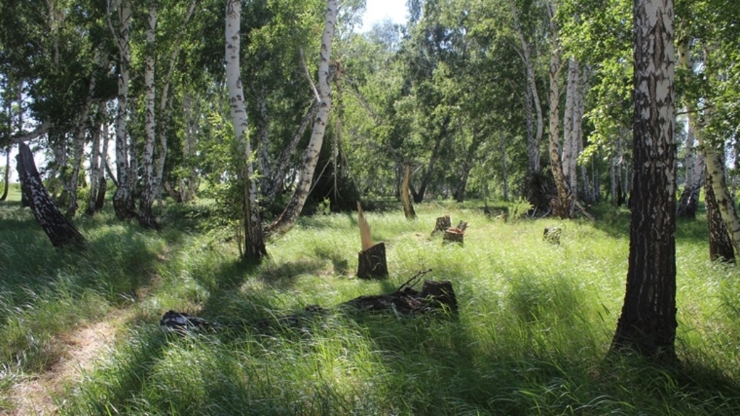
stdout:
<svg viewBox="0 0 740 416">
<path fill-rule="evenodd" d="M 129 164 L 129 142 L 127 136 L 127 105 L 129 98 L 129 78 L 131 64 L 131 1 L 111 0 L 109 10 L 115 8 L 118 16 L 118 27 L 108 21 L 111 33 L 118 46 L 118 107 L 115 115 L 115 167 L 118 185 L 113 195 L 113 209 L 118 219 L 124 220 L 136 216 L 132 189 L 129 178 L 135 173 Z M 109 13 L 110 16 L 110 13 Z"/>
</svg>

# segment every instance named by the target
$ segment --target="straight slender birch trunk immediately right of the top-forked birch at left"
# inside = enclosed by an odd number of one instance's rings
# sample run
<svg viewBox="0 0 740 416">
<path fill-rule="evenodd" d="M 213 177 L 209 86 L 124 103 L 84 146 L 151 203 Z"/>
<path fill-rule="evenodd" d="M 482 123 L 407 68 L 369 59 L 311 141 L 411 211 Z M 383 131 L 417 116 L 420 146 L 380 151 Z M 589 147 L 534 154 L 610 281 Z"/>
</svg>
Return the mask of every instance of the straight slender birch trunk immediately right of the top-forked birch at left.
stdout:
<svg viewBox="0 0 740 416">
<path fill-rule="evenodd" d="M 144 58 L 144 153 L 142 153 L 143 164 L 143 189 L 141 201 L 139 201 L 138 221 L 141 227 L 158 229 L 156 218 L 152 212 L 152 205 L 157 197 L 155 195 L 157 185 L 154 177 L 154 147 L 157 133 L 157 121 L 155 119 L 156 86 L 154 84 L 155 72 L 155 35 L 157 30 L 157 2 L 149 1 L 149 14 L 147 19 L 147 55 Z"/>
</svg>

